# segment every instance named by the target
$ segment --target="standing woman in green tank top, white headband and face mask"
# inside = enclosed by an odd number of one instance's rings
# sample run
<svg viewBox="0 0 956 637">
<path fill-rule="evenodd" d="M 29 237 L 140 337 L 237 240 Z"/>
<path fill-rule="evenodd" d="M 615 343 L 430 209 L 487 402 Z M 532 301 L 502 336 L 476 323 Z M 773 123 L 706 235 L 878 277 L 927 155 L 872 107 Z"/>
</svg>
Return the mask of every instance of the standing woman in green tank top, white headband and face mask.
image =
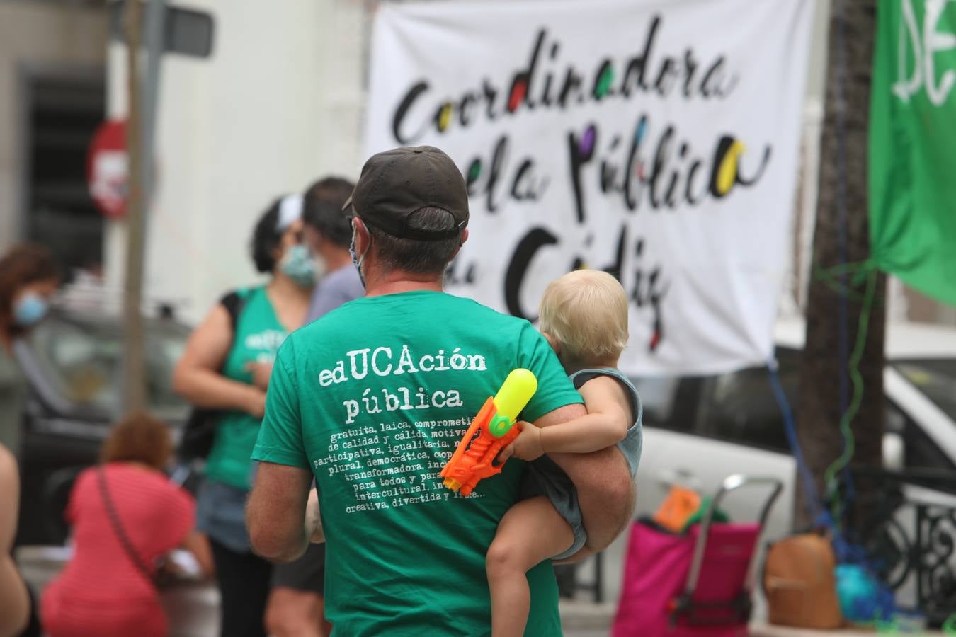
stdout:
<svg viewBox="0 0 956 637">
<path fill-rule="evenodd" d="M 244 505 L 250 456 L 266 404 L 275 352 L 302 325 L 315 264 L 302 241 L 301 197 L 272 203 L 252 234 L 252 261 L 271 275 L 229 293 L 193 331 L 173 387 L 194 406 L 218 411 L 197 525 L 209 537 L 222 597 L 221 634 L 264 636 L 270 563 L 251 553 Z"/>
</svg>

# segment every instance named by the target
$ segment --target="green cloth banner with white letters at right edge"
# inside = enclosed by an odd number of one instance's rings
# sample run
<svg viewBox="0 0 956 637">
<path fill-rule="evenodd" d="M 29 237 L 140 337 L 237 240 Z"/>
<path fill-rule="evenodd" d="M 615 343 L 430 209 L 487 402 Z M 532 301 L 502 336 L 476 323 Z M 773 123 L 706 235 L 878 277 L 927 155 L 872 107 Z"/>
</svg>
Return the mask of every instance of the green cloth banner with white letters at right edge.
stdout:
<svg viewBox="0 0 956 637">
<path fill-rule="evenodd" d="M 956 305 L 956 3 L 880 0 L 870 103 L 873 259 Z"/>
</svg>

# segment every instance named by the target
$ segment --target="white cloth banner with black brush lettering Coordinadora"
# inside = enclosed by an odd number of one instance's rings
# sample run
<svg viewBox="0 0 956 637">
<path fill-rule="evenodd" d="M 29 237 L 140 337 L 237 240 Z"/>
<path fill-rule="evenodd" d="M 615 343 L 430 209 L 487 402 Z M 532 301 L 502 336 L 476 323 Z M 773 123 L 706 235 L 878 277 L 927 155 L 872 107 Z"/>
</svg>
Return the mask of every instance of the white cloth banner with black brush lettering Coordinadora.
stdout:
<svg viewBox="0 0 956 637">
<path fill-rule="evenodd" d="M 631 299 L 631 373 L 761 363 L 786 267 L 812 3 L 380 5 L 365 151 L 468 184 L 448 290 L 535 320 L 585 265 Z"/>
</svg>

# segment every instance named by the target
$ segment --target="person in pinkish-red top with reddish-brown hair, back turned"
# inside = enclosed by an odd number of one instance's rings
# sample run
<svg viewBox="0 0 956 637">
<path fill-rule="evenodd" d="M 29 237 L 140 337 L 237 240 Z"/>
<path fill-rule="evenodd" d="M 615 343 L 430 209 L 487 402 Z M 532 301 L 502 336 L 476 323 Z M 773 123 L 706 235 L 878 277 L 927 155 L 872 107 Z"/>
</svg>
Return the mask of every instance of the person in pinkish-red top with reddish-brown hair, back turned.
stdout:
<svg viewBox="0 0 956 637">
<path fill-rule="evenodd" d="M 133 414 L 104 442 L 102 463 L 76 478 L 66 512 L 74 556 L 40 604 L 50 637 L 169 633 L 153 584 L 157 561 L 185 546 L 204 567 L 211 562 L 194 533 L 195 502 L 163 474 L 171 454 L 166 425 Z"/>
</svg>

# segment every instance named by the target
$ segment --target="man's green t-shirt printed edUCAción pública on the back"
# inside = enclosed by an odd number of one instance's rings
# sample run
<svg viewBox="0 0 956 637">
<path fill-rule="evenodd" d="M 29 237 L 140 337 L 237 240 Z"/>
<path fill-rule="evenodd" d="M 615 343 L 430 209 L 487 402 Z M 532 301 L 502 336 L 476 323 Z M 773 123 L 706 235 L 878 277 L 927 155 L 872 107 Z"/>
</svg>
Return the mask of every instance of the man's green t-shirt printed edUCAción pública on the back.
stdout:
<svg viewBox="0 0 956 637">
<path fill-rule="evenodd" d="M 441 292 L 357 299 L 279 350 L 252 457 L 315 474 L 337 634 L 489 634 L 485 554 L 524 464 L 467 499 L 438 474 L 516 368 L 538 379 L 523 418 L 581 402 L 530 323 Z M 560 635 L 550 563 L 528 580 L 528 634 Z"/>
</svg>

